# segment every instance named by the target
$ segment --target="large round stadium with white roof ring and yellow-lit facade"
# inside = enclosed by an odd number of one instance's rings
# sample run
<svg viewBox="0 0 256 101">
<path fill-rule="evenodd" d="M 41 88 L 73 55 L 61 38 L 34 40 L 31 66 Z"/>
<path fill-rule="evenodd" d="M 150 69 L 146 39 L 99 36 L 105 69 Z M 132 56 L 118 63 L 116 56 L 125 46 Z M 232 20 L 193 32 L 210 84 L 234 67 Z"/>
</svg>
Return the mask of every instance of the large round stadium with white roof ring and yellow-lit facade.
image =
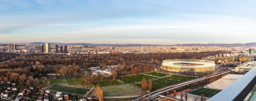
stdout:
<svg viewBox="0 0 256 101">
<path fill-rule="evenodd" d="M 174 73 L 214 73 L 215 62 L 198 59 L 164 60 L 161 69 Z"/>
</svg>

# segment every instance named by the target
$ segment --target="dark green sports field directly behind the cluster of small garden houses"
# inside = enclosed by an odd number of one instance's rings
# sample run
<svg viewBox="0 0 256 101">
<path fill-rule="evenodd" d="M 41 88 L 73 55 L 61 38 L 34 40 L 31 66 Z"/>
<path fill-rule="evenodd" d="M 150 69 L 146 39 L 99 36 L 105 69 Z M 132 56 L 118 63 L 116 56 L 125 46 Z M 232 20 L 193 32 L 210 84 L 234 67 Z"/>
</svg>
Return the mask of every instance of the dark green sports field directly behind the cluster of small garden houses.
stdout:
<svg viewBox="0 0 256 101">
<path fill-rule="evenodd" d="M 57 91 L 63 91 L 63 92 L 70 92 L 70 93 L 76 93 L 77 94 L 86 94 L 90 89 L 85 88 L 77 88 L 77 87 L 69 87 L 69 86 L 60 86 L 60 85 L 54 85 L 50 87 L 50 89 L 57 90 Z"/>
</svg>

